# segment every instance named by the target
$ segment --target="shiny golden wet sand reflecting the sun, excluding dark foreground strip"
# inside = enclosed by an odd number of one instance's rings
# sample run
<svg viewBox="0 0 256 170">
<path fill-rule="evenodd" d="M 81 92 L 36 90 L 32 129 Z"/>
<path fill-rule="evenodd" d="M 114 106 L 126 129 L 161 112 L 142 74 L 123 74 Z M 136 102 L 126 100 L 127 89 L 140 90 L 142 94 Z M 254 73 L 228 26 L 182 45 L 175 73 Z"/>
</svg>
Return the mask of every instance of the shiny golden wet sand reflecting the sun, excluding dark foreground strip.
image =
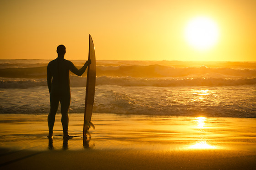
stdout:
<svg viewBox="0 0 256 170">
<path fill-rule="evenodd" d="M 0 145 L 28 149 L 48 144 L 48 114 L 0 114 Z M 70 149 L 82 149 L 83 113 L 69 114 Z M 63 143 L 56 115 L 53 145 Z M 93 113 L 90 129 L 96 149 L 170 148 L 248 149 L 256 151 L 256 118 L 216 118 Z M 58 143 L 58 144 L 56 144 Z M 37 145 L 36 145 L 37 144 Z M 230 146 L 229 146 L 230 145 Z"/>
</svg>

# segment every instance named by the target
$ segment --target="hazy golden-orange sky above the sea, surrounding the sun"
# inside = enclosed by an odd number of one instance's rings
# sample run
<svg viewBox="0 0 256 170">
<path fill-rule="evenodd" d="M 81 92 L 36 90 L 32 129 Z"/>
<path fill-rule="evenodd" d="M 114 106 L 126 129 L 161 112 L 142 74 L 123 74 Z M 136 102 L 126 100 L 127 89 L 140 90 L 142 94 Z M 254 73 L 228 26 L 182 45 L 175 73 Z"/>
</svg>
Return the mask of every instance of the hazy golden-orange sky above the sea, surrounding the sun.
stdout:
<svg viewBox="0 0 256 170">
<path fill-rule="evenodd" d="M 0 0 L 0 59 L 256 61 L 256 0 Z M 187 23 L 210 18 L 218 41 L 187 42 Z"/>
</svg>

